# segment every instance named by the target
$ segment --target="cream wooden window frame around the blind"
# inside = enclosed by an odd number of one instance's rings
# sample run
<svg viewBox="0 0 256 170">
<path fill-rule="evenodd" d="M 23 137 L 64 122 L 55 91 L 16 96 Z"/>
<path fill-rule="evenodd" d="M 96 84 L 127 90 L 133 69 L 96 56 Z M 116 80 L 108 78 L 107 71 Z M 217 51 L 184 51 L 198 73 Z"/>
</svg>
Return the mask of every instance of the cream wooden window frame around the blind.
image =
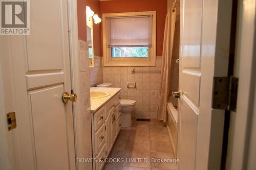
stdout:
<svg viewBox="0 0 256 170">
<path fill-rule="evenodd" d="M 147 57 L 111 57 L 108 47 L 107 17 L 152 15 L 152 47 L 148 47 Z M 105 13 L 102 14 L 103 66 L 156 66 L 156 11 Z"/>
</svg>

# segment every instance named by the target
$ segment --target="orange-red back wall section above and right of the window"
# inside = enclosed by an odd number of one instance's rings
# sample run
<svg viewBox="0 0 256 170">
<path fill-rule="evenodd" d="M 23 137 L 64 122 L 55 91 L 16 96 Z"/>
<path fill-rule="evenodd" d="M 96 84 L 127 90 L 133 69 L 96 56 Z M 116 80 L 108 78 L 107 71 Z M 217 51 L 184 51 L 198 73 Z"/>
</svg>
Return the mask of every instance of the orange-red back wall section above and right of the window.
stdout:
<svg viewBox="0 0 256 170">
<path fill-rule="evenodd" d="M 113 0 L 101 1 L 102 13 L 157 11 L 157 49 L 156 55 L 162 56 L 164 24 L 167 13 L 167 0 Z"/>
</svg>

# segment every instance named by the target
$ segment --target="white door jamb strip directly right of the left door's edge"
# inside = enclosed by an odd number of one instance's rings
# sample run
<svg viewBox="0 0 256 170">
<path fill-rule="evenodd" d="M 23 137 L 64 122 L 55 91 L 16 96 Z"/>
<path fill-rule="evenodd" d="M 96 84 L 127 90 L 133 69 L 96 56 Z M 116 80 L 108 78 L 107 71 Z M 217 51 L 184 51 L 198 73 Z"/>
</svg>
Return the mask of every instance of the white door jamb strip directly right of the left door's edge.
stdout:
<svg viewBox="0 0 256 170">
<path fill-rule="evenodd" d="M 74 137 L 75 137 L 75 156 L 84 158 L 83 138 L 82 138 L 82 103 L 80 92 L 80 75 L 79 75 L 79 39 L 78 39 L 78 20 L 77 20 L 77 2 L 76 0 L 67 0 L 69 3 L 69 45 L 72 86 L 74 93 L 77 94 L 77 101 L 73 103 L 74 119 Z M 85 15 L 84 15 L 85 17 Z M 85 20 L 86 21 L 86 20 Z M 84 163 L 77 163 L 77 169 L 86 169 Z"/>
</svg>

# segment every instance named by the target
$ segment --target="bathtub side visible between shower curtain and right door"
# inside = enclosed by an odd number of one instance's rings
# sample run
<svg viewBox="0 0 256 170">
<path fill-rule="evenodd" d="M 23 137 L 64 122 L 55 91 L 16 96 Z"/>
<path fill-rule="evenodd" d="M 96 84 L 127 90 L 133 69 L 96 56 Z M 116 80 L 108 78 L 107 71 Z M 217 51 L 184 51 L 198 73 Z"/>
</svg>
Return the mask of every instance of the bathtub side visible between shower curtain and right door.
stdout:
<svg viewBox="0 0 256 170">
<path fill-rule="evenodd" d="M 174 156 L 177 158 L 177 135 L 178 135 L 178 99 L 172 98 L 167 103 L 167 130 L 170 142 L 174 151 Z"/>
</svg>

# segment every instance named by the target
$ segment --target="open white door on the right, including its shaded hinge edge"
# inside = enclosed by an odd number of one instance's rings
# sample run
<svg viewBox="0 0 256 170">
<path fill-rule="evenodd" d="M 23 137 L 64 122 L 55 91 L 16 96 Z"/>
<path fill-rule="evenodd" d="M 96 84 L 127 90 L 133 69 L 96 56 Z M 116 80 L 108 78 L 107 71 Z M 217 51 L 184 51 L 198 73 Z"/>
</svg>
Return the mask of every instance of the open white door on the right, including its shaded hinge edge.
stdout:
<svg viewBox="0 0 256 170">
<path fill-rule="evenodd" d="M 224 110 L 212 109 L 214 77 L 226 77 L 231 0 L 182 0 L 179 169 L 220 169 Z"/>
</svg>

